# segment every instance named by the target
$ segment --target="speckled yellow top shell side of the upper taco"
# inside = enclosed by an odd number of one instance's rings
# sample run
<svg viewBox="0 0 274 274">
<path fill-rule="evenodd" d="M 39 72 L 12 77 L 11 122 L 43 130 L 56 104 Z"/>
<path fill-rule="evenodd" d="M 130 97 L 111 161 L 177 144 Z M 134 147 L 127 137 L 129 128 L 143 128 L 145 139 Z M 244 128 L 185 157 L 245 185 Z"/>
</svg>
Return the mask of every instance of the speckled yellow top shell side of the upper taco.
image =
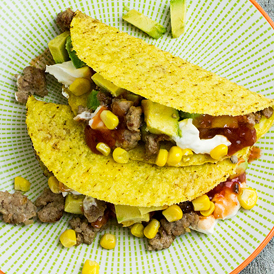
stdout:
<svg viewBox="0 0 274 274">
<path fill-rule="evenodd" d="M 76 12 L 73 49 L 105 79 L 153 102 L 189 113 L 245 115 L 273 106 L 261 94 Z"/>
</svg>

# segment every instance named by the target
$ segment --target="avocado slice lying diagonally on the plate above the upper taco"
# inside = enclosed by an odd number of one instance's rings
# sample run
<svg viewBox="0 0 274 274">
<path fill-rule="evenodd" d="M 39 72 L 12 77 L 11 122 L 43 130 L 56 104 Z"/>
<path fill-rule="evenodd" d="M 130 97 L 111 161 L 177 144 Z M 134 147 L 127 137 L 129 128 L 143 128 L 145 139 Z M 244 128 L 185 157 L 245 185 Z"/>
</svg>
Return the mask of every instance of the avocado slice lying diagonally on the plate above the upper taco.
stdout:
<svg viewBox="0 0 274 274">
<path fill-rule="evenodd" d="M 122 18 L 155 39 L 166 32 L 166 28 L 162 25 L 134 9 L 128 11 Z"/>
</svg>

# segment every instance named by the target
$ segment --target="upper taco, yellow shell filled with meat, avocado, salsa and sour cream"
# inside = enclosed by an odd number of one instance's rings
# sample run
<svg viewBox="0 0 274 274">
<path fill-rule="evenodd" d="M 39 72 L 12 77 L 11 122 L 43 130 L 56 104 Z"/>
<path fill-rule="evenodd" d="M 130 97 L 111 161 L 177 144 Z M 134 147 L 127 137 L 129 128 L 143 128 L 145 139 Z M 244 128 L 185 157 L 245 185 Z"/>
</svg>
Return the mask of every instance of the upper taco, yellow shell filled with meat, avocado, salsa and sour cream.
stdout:
<svg viewBox="0 0 274 274">
<path fill-rule="evenodd" d="M 94 153 L 104 143 L 125 149 L 131 160 L 161 166 L 216 163 L 243 157 L 274 122 L 273 100 L 81 12 L 70 35 L 77 57 L 96 72 L 92 91 L 76 96 L 68 82 L 64 89 L 75 119 L 87 123 Z M 55 75 L 54 66 L 46 71 Z M 116 116 L 115 129 L 104 125 L 102 112 Z M 163 164 L 160 148 L 167 158 L 173 146 L 181 157 Z"/>
</svg>

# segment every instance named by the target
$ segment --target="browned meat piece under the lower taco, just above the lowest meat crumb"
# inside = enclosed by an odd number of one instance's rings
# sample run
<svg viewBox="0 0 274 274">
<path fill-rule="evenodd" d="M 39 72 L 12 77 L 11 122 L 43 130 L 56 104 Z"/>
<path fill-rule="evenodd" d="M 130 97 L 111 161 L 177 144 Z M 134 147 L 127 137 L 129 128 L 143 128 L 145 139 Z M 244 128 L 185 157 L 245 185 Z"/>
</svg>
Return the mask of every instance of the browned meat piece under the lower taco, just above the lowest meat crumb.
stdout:
<svg viewBox="0 0 274 274">
<path fill-rule="evenodd" d="M 179 236 L 187 232 L 190 226 L 197 227 L 199 222 L 198 214 L 191 212 L 183 215 L 179 221 L 169 223 L 166 219 L 162 219 L 161 225 L 168 235 Z"/>
</svg>

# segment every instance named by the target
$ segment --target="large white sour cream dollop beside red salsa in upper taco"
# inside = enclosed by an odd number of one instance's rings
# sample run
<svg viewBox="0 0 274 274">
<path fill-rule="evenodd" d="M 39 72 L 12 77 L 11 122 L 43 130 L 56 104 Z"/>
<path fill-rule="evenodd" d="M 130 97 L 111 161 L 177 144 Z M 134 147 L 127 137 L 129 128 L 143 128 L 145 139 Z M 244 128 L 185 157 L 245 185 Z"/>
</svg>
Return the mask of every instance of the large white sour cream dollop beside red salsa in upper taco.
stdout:
<svg viewBox="0 0 274 274">
<path fill-rule="evenodd" d="M 231 143 L 225 136 L 216 135 L 211 139 L 200 139 L 199 130 L 193 125 L 192 119 L 184 119 L 179 122 L 180 136 L 173 136 L 172 139 L 177 146 L 186 149 L 189 148 L 196 154 L 209 154 L 210 151 L 218 145 L 229 146 Z"/>
</svg>

